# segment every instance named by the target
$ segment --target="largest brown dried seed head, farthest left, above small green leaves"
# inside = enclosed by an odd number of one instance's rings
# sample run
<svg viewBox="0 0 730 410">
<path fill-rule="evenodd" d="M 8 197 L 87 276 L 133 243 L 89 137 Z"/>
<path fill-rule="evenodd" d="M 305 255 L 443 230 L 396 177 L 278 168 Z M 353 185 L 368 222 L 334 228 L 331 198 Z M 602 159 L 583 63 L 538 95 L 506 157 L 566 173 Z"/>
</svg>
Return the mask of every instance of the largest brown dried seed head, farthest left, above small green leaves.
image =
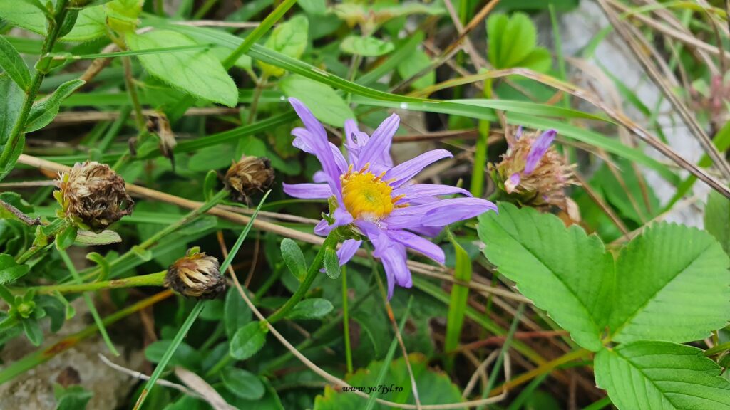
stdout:
<svg viewBox="0 0 730 410">
<path fill-rule="evenodd" d="M 134 201 L 127 194 L 124 179 L 107 164 L 76 163 L 61 175 L 61 190 L 54 193 L 61 204 L 61 217 L 82 229 L 99 233 L 131 214 Z"/>
</svg>

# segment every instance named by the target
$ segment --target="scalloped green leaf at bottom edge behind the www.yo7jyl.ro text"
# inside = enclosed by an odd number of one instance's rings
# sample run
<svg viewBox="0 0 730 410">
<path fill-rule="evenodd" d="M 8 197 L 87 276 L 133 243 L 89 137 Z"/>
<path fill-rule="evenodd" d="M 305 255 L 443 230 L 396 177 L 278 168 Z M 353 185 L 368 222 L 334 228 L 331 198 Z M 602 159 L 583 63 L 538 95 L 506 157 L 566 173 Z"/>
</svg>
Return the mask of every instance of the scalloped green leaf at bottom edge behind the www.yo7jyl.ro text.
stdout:
<svg viewBox="0 0 730 410">
<path fill-rule="evenodd" d="M 418 386 L 418 398 L 422 405 L 452 404 L 464 401 L 461 392 L 454 385 L 447 374 L 428 367 L 428 360 L 418 353 L 408 355 L 408 361 L 413 371 L 415 384 Z M 386 400 L 397 403 L 414 404 L 415 399 L 411 390 L 411 380 L 403 358 L 393 360 L 388 364 L 385 378 L 377 382 L 377 376 L 383 368 L 383 362 L 372 362 L 367 368 L 361 368 L 355 374 L 347 377 L 347 382 L 356 387 L 372 387 L 377 390 L 383 386 L 380 395 Z M 400 389 L 388 391 L 389 387 Z M 368 392 L 370 395 L 373 392 Z M 364 409 L 366 401 L 351 392 L 338 392 L 326 386 L 322 395 L 315 398 L 313 410 L 341 410 Z M 391 407 L 383 404 L 374 404 L 373 409 L 386 410 Z M 461 408 L 460 408 L 461 409 Z"/>
</svg>

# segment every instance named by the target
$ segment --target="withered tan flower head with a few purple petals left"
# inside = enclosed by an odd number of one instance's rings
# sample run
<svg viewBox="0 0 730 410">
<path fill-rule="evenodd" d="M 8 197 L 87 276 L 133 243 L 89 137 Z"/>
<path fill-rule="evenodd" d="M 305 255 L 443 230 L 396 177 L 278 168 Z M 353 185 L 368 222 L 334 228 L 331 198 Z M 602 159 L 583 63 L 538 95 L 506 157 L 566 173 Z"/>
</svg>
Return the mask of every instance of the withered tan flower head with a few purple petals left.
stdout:
<svg viewBox="0 0 730 410">
<path fill-rule="evenodd" d="M 502 162 L 494 166 L 496 183 L 523 204 L 536 207 L 557 206 L 572 217 L 575 206 L 565 196 L 565 188 L 575 185 L 573 166 L 552 147 L 557 131 L 523 134 L 519 128 L 515 137 L 507 140 L 510 147 Z M 574 218 L 575 219 L 575 218 Z"/>
</svg>

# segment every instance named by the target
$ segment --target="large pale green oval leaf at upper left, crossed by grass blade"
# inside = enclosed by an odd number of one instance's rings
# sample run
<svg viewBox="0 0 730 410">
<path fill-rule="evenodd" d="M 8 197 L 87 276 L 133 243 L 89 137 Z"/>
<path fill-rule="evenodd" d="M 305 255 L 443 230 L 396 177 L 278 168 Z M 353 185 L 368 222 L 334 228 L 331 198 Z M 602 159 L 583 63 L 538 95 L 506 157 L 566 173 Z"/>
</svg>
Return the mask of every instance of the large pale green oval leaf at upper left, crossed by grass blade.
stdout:
<svg viewBox="0 0 730 410">
<path fill-rule="evenodd" d="M 188 36 L 169 30 L 128 33 L 126 39 L 128 47 L 134 51 L 198 44 Z M 238 91 L 233 79 L 209 51 L 145 54 L 137 58 L 150 74 L 174 88 L 228 107 L 237 104 Z"/>
</svg>

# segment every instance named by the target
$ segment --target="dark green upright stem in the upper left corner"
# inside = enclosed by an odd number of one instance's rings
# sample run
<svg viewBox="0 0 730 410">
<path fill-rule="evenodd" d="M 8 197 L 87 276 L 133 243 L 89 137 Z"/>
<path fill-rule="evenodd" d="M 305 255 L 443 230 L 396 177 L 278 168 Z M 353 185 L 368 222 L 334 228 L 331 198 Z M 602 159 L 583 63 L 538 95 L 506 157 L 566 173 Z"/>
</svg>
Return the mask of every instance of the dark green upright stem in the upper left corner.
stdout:
<svg viewBox="0 0 730 410">
<path fill-rule="evenodd" d="M 50 68 L 50 59 L 44 60 L 45 55 L 53 50 L 56 40 L 58 39 L 58 33 L 61 31 L 61 27 L 64 25 L 66 19 L 66 3 L 68 0 L 58 0 L 56 4 L 56 14 L 54 20 L 49 20 L 48 24 L 48 35 L 43 41 L 41 47 L 41 58 L 37 63 L 36 73 L 33 77 L 30 87 L 26 90 L 26 98 L 23 100 L 23 106 L 20 108 L 20 115 L 18 120 L 15 121 L 15 125 L 12 126 L 10 135 L 8 136 L 7 142 L 2 152 L 0 152 L 0 169 L 9 169 L 8 166 L 13 152 L 15 152 L 20 136 L 23 135 L 23 129 L 26 128 L 26 120 L 28 115 L 31 113 L 31 108 L 36 100 L 38 90 L 41 87 L 43 78 Z"/>
</svg>

